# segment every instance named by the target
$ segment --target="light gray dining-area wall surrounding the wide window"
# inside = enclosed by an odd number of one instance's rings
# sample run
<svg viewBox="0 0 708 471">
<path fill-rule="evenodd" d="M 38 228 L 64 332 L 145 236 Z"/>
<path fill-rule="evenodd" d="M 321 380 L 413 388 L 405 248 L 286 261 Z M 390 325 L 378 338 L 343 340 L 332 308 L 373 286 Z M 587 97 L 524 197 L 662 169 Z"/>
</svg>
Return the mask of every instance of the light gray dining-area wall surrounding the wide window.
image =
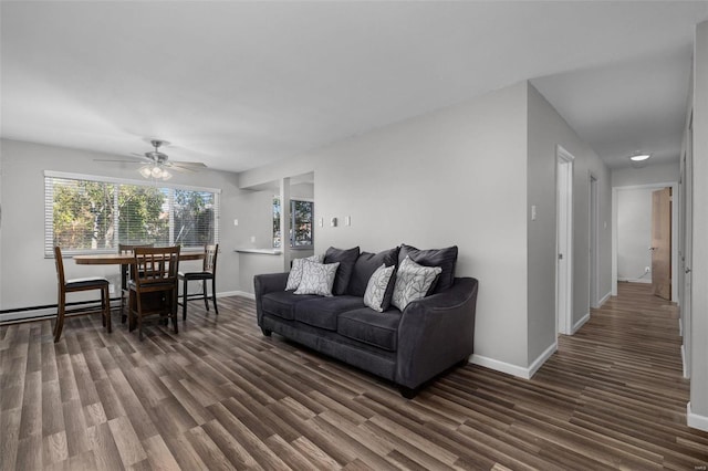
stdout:
<svg viewBox="0 0 708 471">
<path fill-rule="evenodd" d="M 53 259 L 44 258 L 44 170 L 116 178 L 140 179 L 135 166 L 96 163 L 94 158 L 115 157 L 79 149 L 44 146 L 3 139 L 0 142 L 2 177 L 2 239 L 0 251 L 0 308 L 21 308 L 56 303 L 56 271 Z M 122 168 L 123 167 L 123 168 Z M 176 172 L 177 174 L 177 172 Z M 187 180 L 188 179 L 188 180 Z M 235 249 L 232 220 L 238 213 L 241 190 L 238 176 L 205 170 L 185 176 L 177 174 L 170 182 L 220 188 L 221 253 L 217 292 L 238 290 L 238 258 Z M 223 223 L 228 221 L 228 223 Z M 200 262 L 190 263 L 195 268 Z M 118 284 L 118 268 L 114 265 L 76 265 L 66 263 L 69 278 L 102 275 Z M 79 295 L 77 295 L 79 296 Z M 79 297 L 75 297 L 79 299 Z"/>
</svg>

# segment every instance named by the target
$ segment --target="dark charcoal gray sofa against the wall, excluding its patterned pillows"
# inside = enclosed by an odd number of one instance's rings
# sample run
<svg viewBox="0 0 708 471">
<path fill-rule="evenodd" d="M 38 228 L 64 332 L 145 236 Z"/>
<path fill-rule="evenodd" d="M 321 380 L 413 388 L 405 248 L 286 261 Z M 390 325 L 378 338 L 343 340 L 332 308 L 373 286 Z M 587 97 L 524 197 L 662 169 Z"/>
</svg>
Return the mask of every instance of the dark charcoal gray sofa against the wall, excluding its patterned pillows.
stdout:
<svg viewBox="0 0 708 471">
<path fill-rule="evenodd" d="M 454 249 L 454 259 L 450 252 Z M 444 252 L 447 251 L 447 252 Z M 364 305 L 363 290 L 381 263 L 397 264 L 405 255 L 428 266 L 447 265 L 437 285 L 403 312 Z M 277 333 L 396 384 L 406 398 L 473 352 L 478 282 L 455 278 L 457 247 L 418 251 L 402 245 L 389 251 L 358 253 L 358 248 L 327 250 L 324 262 L 340 261 L 333 296 L 285 291 L 288 273 L 254 276 L 258 325 L 263 335 Z"/>
</svg>

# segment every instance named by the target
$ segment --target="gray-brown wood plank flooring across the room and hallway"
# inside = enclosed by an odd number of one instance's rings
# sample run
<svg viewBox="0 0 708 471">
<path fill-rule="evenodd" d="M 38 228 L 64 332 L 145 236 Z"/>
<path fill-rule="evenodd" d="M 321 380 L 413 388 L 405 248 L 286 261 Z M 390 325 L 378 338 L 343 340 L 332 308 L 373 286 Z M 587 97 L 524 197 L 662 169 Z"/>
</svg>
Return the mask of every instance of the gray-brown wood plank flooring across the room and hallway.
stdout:
<svg viewBox="0 0 708 471">
<path fill-rule="evenodd" d="M 142 343 L 117 316 L 67 320 L 59 344 L 49 321 L 3 326 L 0 469 L 705 470 L 677 310 L 620 287 L 533 379 L 468 365 L 414 400 L 263 337 L 242 297 Z"/>
</svg>

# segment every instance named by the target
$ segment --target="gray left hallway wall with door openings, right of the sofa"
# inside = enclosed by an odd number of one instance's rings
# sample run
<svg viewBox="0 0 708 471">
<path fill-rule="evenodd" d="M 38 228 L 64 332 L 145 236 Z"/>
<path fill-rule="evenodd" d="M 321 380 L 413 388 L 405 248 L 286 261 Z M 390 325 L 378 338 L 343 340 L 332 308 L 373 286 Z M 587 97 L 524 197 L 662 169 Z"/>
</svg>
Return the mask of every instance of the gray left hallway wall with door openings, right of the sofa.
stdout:
<svg viewBox="0 0 708 471">
<path fill-rule="evenodd" d="M 556 148 L 573 161 L 573 313 L 572 323 L 590 313 L 590 175 L 597 179 L 601 297 L 611 291 L 610 172 L 551 104 L 529 84 L 528 271 L 529 360 L 533 363 L 556 341 L 555 324 L 555 172 Z M 531 220 L 531 206 L 537 220 Z"/>
</svg>

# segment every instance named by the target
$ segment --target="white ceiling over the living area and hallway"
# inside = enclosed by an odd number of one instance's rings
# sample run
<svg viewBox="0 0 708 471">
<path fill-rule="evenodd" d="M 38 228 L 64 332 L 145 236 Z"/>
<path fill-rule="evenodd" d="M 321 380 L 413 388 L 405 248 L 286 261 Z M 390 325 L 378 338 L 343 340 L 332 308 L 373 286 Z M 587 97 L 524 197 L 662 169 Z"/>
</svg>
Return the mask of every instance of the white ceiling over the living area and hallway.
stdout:
<svg viewBox="0 0 708 471">
<path fill-rule="evenodd" d="M 532 83 L 612 167 L 677 160 L 708 1 L 0 3 L 3 138 L 241 171 Z"/>
</svg>

